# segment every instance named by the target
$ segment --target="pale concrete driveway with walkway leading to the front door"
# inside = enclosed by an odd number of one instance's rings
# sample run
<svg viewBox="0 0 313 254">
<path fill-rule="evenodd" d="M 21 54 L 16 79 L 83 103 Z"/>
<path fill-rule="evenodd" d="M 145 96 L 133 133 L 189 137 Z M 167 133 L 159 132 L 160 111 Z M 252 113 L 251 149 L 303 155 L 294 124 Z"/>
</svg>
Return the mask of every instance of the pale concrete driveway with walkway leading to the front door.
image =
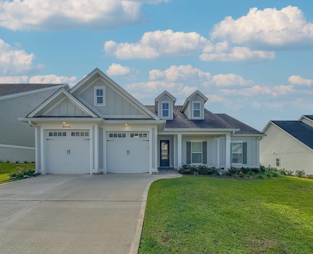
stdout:
<svg viewBox="0 0 313 254">
<path fill-rule="evenodd" d="M 136 253 L 150 183 L 179 176 L 48 175 L 0 185 L 0 253 Z"/>
</svg>

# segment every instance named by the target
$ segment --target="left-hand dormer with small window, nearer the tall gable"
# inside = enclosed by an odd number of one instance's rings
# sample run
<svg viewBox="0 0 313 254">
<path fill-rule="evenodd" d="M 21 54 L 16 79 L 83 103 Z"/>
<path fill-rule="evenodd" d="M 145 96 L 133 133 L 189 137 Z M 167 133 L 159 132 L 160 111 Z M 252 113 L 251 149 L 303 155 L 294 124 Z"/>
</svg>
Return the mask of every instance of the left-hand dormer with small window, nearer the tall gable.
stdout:
<svg viewBox="0 0 313 254">
<path fill-rule="evenodd" d="M 172 120 L 176 98 L 166 90 L 155 99 L 157 116 L 161 119 Z"/>
</svg>

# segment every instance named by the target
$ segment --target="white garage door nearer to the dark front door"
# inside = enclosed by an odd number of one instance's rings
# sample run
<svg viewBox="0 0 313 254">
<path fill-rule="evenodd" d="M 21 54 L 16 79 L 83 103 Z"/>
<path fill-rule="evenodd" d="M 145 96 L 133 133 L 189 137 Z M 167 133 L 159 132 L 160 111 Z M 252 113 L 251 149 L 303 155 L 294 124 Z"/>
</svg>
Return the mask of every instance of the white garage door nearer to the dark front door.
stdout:
<svg viewBox="0 0 313 254">
<path fill-rule="evenodd" d="M 148 132 L 107 133 L 107 173 L 149 173 Z"/>
</svg>

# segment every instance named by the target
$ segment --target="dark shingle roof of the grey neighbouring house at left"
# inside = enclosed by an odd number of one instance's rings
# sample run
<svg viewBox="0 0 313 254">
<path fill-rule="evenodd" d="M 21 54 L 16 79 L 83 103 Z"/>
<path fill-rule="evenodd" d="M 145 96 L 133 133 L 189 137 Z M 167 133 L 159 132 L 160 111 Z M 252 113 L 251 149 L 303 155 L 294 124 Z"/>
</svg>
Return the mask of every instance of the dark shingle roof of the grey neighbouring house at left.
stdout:
<svg viewBox="0 0 313 254">
<path fill-rule="evenodd" d="M 67 84 L 0 84 L 0 96 Z"/>
</svg>

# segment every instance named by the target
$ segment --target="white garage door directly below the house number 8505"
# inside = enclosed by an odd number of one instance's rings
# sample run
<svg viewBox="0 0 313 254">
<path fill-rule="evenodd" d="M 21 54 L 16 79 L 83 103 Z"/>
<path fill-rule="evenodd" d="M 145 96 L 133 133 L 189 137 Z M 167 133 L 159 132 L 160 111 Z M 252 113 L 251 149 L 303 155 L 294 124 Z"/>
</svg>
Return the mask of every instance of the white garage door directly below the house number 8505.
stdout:
<svg viewBox="0 0 313 254">
<path fill-rule="evenodd" d="M 90 174 L 89 130 L 46 132 L 47 174 Z"/>
</svg>

